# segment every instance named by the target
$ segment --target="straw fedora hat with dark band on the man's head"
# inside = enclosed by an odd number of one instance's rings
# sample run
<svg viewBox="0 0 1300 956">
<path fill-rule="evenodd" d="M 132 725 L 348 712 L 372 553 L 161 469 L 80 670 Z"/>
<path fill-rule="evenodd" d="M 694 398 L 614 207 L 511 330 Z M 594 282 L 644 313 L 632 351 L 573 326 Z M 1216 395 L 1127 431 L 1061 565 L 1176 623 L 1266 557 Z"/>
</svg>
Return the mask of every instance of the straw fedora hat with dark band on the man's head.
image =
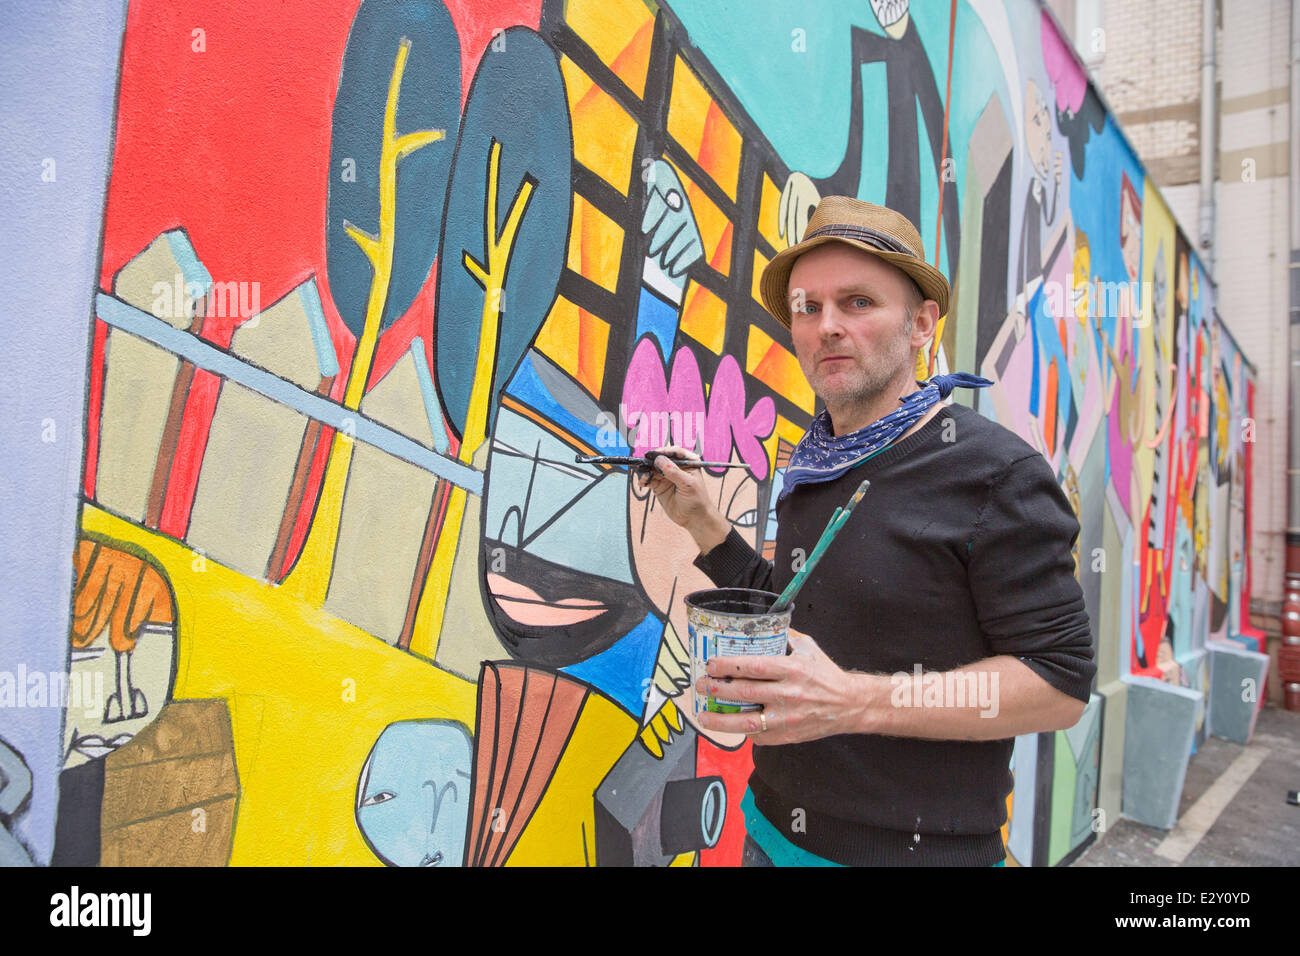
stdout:
<svg viewBox="0 0 1300 956">
<path fill-rule="evenodd" d="M 763 306 L 785 328 L 790 326 L 794 260 L 828 242 L 842 242 L 897 265 L 920 286 L 922 295 L 939 303 L 940 316 L 948 315 L 948 280 L 926 261 L 920 234 L 906 216 L 861 199 L 826 196 L 809 220 L 803 241 L 777 252 L 759 280 Z"/>
</svg>

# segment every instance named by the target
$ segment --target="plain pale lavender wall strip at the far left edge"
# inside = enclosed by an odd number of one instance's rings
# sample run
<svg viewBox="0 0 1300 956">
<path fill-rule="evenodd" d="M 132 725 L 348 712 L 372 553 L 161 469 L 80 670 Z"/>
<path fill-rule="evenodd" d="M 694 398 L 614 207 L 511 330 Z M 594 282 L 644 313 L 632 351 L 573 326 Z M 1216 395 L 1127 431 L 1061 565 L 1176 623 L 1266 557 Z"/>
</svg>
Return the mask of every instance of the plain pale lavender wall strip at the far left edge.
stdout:
<svg viewBox="0 0 1300 956">
<path fill-rule="evenodd" d="M 23 4 L 6 10 L 0 31 L 0 672 L 14 678 L 48 682 L 68 670 L 91 302 L 125 14 L 125 0 Z M 55 844 L 62 721 L 58 706 L 0 708 L 0 737 L 32 773 L 13 832 L 38 864 Z"/>
</svg>

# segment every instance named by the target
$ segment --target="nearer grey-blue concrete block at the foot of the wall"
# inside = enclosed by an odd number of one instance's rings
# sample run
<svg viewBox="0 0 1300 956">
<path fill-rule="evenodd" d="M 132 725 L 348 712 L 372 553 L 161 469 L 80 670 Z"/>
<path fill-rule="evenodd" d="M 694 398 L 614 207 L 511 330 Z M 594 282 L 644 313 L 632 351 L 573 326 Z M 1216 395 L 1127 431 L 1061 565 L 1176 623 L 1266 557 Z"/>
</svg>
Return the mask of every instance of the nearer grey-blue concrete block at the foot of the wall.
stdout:
<svg viewBox="0 0 1300 956">
<path fill-rule="evenodd" d="M 1123 816 L 1169 830 L 1178 821 L 1178 801 L 1205 696 L 1152 678 L 1123 682 L 1128 684 Z"/>
</svg>

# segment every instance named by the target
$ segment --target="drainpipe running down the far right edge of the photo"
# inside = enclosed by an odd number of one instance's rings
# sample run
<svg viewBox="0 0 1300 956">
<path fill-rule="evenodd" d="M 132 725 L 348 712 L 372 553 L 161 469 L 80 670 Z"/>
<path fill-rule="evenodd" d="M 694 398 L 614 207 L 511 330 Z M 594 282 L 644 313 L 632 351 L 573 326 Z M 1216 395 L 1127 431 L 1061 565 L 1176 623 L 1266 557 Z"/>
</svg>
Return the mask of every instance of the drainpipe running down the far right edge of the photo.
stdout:
<svg viewBox="0 0 1300 956">
<path fill-rule="evenodd" d="M 1287 373 L 1287 570 L 1278 670 L 1287 710 L 1300 710 L 1300 0 L 1291 0 L 1291 268 Z"/>
</svg>

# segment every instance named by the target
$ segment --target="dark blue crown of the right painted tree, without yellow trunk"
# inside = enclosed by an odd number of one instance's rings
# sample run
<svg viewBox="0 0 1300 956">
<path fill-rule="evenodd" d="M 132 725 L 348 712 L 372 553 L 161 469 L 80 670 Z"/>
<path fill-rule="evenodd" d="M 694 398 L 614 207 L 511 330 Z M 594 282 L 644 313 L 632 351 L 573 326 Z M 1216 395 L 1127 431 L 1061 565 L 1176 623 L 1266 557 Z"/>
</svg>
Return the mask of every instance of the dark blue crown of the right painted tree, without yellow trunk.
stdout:
<svg viewBox="0 0 1300 956">
<path fill-rule="evenodd" d="M 526 27 L 511 27 L 500 39 L 499 51 L 490 44 L 484 52 L 469 88 L 439 246 L 434 367 L 442 407 L 458 434 L 469 410 L 484 312 L 484 287 L 465 268 L 465 256 L 486 268 L 488 233 L 500 234 L 514 198 L 525 181 L 533 182 L 502 289 L 490 432 L 500 389 L 555 302 L 568 251 L 572 134 L 559 64 Z M 485 228 L 494 144 L 500 147 L 497 221 Z"/>
</svg>

